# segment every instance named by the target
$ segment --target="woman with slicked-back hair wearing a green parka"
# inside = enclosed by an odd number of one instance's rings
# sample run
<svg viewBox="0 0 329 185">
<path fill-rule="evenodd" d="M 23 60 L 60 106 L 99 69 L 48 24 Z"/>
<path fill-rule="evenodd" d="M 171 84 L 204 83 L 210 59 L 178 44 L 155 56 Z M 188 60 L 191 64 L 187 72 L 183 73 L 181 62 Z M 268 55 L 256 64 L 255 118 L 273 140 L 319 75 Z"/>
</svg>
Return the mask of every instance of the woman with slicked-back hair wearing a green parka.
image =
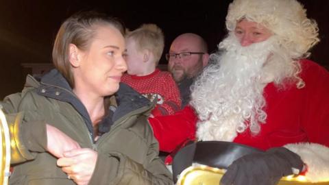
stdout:
<svg viewBox="0 0 329 185">
<path fill-rule="evenodd" d="M 5 98 L 10 184 L 172 184 L 147 122 L 153 105 L 119 84 L 123 30 L 95 12 L 71 16 L 53 47 L 56 69 Z"/>
</svg>

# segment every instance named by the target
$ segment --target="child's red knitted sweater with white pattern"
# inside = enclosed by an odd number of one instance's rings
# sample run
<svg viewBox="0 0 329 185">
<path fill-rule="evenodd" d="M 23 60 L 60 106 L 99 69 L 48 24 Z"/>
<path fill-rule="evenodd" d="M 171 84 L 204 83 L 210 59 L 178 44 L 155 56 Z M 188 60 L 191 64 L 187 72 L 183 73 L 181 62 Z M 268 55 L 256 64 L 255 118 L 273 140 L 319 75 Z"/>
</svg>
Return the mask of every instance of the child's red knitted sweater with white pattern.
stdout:
<svg viewBox="0 0 329 185">
<path fill-rule="evenodd" d="M 151 112 L 153 116 L 169 115 L 180 110 L 180 92 L 173 77 L 167 71 L 156 69 L 145 76 L 125 74 L 121 82 L 128 84 L 150 101 L 158 98 L 157 106 Z"/>
</svg>

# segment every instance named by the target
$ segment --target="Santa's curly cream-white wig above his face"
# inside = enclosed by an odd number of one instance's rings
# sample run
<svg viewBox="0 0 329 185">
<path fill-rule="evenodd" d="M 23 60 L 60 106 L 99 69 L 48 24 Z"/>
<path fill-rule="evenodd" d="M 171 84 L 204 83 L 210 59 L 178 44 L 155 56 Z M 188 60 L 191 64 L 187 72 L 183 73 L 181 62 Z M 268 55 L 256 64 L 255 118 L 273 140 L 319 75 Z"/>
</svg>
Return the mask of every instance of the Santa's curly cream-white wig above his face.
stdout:
<svg viewBox="0 0 329 185">
<path fill-rule="evenodd" d="M 302 88 L 304 82 L 298 77 L 301 69 L 297 61 L 307 58 L 308 50 L 319 42 L 317 23 L 307 18 L 303 5 L 296 0 L 234 0 L 226 16 L 227 29 L 234 31 L 243 18 L 262 24 L 277 36 L 291 60 L 297 87 Z"/>
</svg>

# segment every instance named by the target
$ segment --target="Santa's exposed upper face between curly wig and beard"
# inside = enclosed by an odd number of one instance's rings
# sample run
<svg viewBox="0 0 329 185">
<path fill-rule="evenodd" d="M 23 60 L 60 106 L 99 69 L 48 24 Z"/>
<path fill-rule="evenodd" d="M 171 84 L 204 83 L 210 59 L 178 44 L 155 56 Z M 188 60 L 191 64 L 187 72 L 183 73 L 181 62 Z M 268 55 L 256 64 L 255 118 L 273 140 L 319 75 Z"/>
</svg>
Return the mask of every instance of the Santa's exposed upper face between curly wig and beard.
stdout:
<svg viewBox="0 0 329 185">
<path fill-rule="evenodd" d="M 256 42 L 263 42 L 272 35 L 269 29 L 263 25 L 245 19 L 236 23 L 234 34 L 243 47 L 252 45 L 252 43 Z"/>
</svg>

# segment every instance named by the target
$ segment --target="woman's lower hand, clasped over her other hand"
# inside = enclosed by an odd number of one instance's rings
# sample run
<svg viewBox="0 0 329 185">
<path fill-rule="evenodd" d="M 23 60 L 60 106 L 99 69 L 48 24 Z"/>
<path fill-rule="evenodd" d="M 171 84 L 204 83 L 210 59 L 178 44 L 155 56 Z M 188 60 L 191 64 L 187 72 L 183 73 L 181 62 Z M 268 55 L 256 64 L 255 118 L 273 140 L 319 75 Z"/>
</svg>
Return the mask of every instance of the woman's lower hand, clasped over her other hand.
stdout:
<svg viewBox="0 0 329 185">
<path fill-rule="evenodd" d="M 97 162 L 97 152 L 93 149 L 73 149 L 64 152 L 64 157 L 57 160 L 62 171 L 78 185 L 86 185 L 93 175 Z"/>
</svg>

